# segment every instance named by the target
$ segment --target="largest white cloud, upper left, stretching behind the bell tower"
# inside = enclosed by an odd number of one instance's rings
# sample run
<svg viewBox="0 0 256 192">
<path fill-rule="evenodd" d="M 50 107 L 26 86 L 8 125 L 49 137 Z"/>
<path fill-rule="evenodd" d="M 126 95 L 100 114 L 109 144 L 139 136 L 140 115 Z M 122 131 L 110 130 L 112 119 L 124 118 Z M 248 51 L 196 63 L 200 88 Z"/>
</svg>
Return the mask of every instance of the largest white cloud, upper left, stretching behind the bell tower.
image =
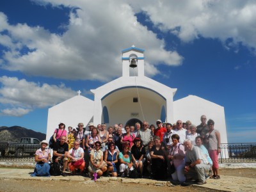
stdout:
<svg viewBox="0 0 256 192">
<path fill-rule="evenodd" d="M 47 1 L 45 1 L 47 2 Z M 122 49 L 132 44 L 145 49 L 145 70 L 154 76 L 159 63 L 181 65 L 182 56 L 176 51 L 163 49 L 164 41 L 147 27 L 137 22 L 132 7 L 120 1 L 49 1 L 54 6 L 79 8 L 70 12 L 65 33 L 57 35 L 43 27 L 27 24 L 8 24 L 6 15 L 1 31 L 8 31 L 3 45 L 2 67 L 20 71 L 29 76 L 46 76 L 61 79 L 96 79 L 108 81 L 122 74 Z M 12 45 L 9 45 L 12 42 Z M 1 42 L 0 42 L 1 43 Z M 24 49 L 29 51 L 22 54 Z M 104 70 L 102 70 L 104 68 Z M 150 68 L 154 68 L 150 71 Z"/>
</svg>

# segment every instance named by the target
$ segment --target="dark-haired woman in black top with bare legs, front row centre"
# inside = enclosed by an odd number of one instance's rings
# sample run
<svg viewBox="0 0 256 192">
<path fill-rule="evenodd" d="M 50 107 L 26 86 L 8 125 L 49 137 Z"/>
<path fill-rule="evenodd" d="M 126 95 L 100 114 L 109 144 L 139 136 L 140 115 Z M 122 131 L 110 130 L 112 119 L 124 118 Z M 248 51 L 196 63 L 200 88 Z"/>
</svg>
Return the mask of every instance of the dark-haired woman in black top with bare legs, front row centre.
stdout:
<svg viewBox="0 0 256 192">
<path fill-rule="evenodd" d="M 143 175 L 143 164 L 145 163 L 145 147 L 141 144 L 140 138 L 134 138 L 134 145 L 132 145 L 131 154 L 134 168 L 140 170 L 140 178 Z"/>
</svg>

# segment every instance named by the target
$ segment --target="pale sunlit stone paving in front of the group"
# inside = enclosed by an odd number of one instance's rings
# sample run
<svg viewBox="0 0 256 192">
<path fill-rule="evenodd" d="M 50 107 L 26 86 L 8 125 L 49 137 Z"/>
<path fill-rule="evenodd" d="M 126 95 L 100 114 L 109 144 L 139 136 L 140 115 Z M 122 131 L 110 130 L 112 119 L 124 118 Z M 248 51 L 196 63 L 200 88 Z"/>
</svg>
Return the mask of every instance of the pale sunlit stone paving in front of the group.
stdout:
<svg viewBox="0 0 256 192">
<path fill-rule="evenodd" d="M 52 180 L 52 181 L 67 181 L 67 182 L 92 182 L 88 177 L 73 176 L 68 177 L 52 176 L 52 177 L 31 177 L 30 173 L 33 169 L 18 169 L 18 168 L 0 168 L 1 180 Z M 109 182 L 109 180 L 117 180 L 124 184 L 136 183 L 158 186 L 171 186 L 168 181 L 157 181 L 152 179 L 123 179 L 115 177 L 102 177 L 97 182 Z M 248 177 L 232 177 L 221 175 L 221 179 L 207 179 L 207 184 L 201 185 L 202 188 L 218 189 L 221 191 L 256 191 L 256 178 Z M 206 190 L 206 189 L 205 189 Z"/>
</svg>

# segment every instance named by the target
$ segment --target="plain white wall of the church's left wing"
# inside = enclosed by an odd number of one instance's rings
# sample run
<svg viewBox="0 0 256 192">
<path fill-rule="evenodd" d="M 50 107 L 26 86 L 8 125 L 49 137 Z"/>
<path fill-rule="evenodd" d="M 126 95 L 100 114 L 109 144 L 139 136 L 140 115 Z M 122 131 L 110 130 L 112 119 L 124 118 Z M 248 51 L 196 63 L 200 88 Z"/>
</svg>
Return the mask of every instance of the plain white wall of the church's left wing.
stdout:
<svg viewBox="0 0 256 192">
<path fill-rule="evenodd" d="M 48 141 L 60 122 L 76 129 L 77 124 L 86 126 L 93 118 L 93 100 L 81 95 L 65 100 L 49 108 L 47 120 L 46 140 Z"/>
</svg>

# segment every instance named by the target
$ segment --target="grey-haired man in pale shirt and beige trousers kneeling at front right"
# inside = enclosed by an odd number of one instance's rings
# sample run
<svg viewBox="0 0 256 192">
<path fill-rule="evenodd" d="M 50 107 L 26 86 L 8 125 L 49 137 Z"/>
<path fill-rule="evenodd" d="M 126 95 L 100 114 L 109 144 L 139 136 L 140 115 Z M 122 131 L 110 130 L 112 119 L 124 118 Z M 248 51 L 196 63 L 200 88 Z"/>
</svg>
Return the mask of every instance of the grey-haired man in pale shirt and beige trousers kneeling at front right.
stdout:
<svg viewBox="0 0 256 192">
<path fill-rule="evenodd" d="M 211 169 L 207 158 L 202 154 L 202 150 L 192 145 L 190 140 L 184 141 L 186 147 L 186 166 L 184 169 L 186 179 L 195 179 L 196 184 L 205 184 L 205 174 Z"/>
</svg>

